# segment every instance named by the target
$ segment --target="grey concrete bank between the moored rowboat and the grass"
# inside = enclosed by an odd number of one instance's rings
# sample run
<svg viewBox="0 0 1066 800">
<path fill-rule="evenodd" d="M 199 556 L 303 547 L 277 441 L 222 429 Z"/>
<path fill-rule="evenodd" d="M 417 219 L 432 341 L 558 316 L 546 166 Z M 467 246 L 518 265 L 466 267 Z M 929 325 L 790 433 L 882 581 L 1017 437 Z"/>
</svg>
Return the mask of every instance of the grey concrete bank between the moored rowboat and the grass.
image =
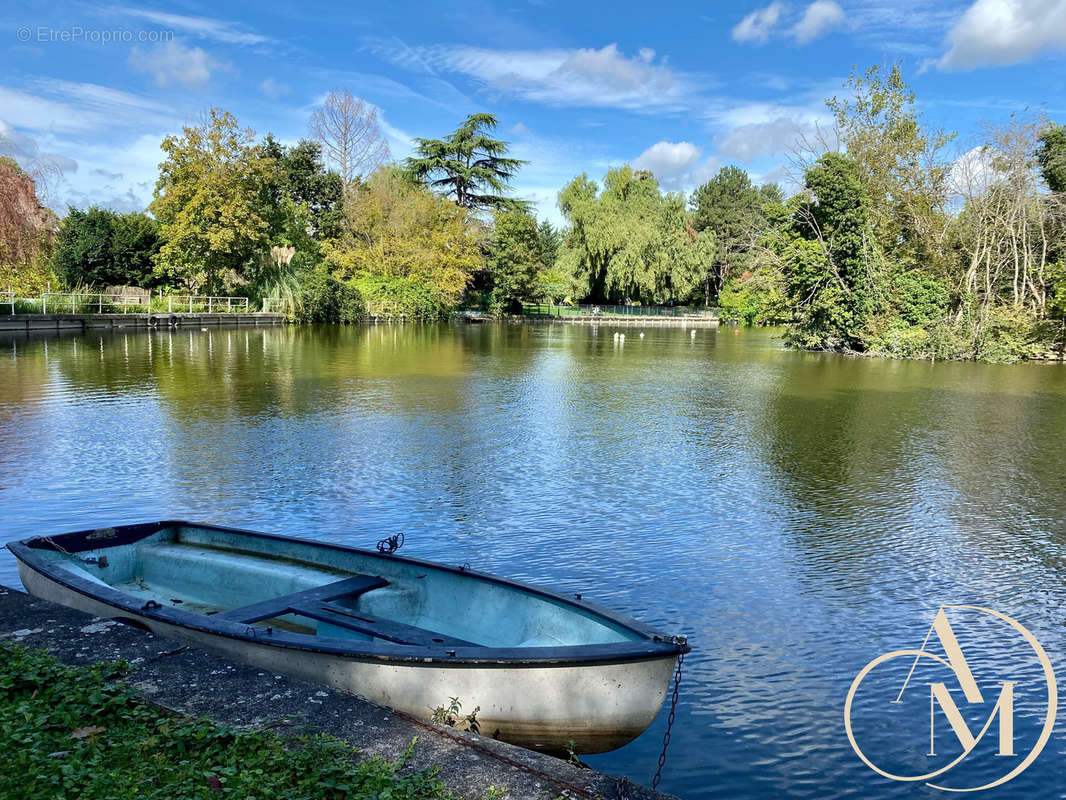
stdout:
<svg viewBox="0 0 1066 800">
<path fill-rule="evenodd" d="M 440 780 L 474 800 L 490 786 L 507 800 L 555 797 L 613 800 L 616 779 L 560 758 L 397 714 L 319 686 L 263 672 L 111 620 L 0 587 L 0 639 L 50 651 L 65 663 L 126 659 L 124 682 L 151 703 L 192 717 L 228 724 L 270 727 L 278 733 L 326 733 L 368 756 L 394 758 L 418 738 L 413 769 L 439 766 Z M 649 771 L 640 775 L 650 780 Z M 633 800 L 668 798 L 636 784 Z"/>
</svg>

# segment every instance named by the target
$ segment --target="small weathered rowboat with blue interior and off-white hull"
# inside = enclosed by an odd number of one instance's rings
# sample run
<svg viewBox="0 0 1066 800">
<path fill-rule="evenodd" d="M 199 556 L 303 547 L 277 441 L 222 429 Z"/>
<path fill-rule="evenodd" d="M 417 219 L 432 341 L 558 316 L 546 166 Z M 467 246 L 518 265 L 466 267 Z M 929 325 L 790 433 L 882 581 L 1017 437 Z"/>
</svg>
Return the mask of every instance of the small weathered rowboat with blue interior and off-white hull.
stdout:
<svg viewBox="0 0 1066 800">
<path fill-rule="evenodd" d="M 393 544 L 395 540 L 393 540 Z M 484 735 L 599 753 L 655 719 L 679 637 L 467 565 L 180 521 L 12 542 L 33 595 Z"/>
</svg>

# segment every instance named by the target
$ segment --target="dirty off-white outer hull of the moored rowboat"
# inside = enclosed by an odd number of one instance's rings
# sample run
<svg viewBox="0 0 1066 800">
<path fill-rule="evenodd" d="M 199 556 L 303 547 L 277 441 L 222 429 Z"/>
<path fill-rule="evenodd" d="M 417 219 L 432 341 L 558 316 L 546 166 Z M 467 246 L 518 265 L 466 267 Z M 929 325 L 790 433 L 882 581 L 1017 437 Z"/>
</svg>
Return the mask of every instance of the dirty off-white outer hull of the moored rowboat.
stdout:
<svg viewBox="0 0 1066 800">
<path fill-rule="evenodd" d="M 522 747 L 561 753 L 616 749 L 658 715 L 675 655 L 592 663 L 449 666 L 395 662 L 277 646 L 175 625 L 118 608 L 52 580 L 19 561 L 31 594 L 96 617 L 120 619 L 160 636 L 211 650 L 264 670 L 358 694 L 418 717 L 450 698 L 465 711 L 480 707 L 481 733 Z"/>
</svg>

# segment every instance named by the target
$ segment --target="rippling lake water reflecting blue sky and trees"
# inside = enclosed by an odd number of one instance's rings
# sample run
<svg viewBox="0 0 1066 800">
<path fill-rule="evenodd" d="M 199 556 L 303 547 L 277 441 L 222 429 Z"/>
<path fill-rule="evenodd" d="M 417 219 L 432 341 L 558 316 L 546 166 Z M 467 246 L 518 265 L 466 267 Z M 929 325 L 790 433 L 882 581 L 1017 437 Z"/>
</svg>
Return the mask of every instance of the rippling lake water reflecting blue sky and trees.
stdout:
<svg viewBox="0 0 1066 800">
<path fill-rule="evenodd" d="M 920 646 L 943 604 L 1010 614 L 1066 675 L 1066 368 L 797 353 L 729 327 L 644 333 L 0 338 L 5 539 L 167 517 L 362 546 L 402 530 L 405 555 L 688 635 L 668 791 L 943 797 L 861 764 L 844 698 L 875 656 Z M 16 581 L 4 551 L 0 582 Z M 958 619 L 986 701 L 967 713 L 984 720 L 1015 670 L 1024 754 L 1046 705 L 1033 670 L 1012 666 L 1002 631 Z M 946 763 L 959 746 L 940 715 L 940 755 L 924 755 L 928 682 L 914 682 L 904 710 L 860 692 L 857 735 L 883 763 Z M 664 726 L 665 711 L 586 761 L 647 783 Z M 989 755 L 995 738 L 994 724 L 943 782 L 980 785 L 1017 763 Z M 1066 796 L 1064 754 L 1056 732 L 982 796 Z"/>
</svg>

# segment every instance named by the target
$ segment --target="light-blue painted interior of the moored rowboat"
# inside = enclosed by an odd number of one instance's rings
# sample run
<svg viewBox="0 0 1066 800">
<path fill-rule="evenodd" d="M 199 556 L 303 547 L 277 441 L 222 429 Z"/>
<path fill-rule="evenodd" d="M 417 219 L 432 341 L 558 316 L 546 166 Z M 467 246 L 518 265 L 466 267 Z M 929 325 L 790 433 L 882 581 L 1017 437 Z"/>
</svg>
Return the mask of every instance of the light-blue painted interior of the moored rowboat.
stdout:
<svg viewBox="0 0 1066 800">
<path fill-rule="evenodd" d="M 640 640 L 630 630 L 583 609 L 521 587 L 441 570 L 432 565 L 321 547 L 312 542 L 275 540 L 196 526 L 164 528 L 132 544 L 100 547 L 70 556 L 42 556 L 85 580 L 110 587 L 145 603 L 222 619 L 249 621 L 294 634 L 373 640 L 360 621 L 432 631 L 448 641 L 492 647 L 544 647 Z M 107 565 L 86 563 L 107 557 Z M 281 613 L 262 620 L 241 610 L 256 604 L 314 592 L 356 576 L 379 576 L 374 588 L 332 598 L 326 611 Z M 386 585 L 381 586 L 381 583 Z M 348 583 L 359 581 L 349 580 Z M 371 582 L 371 581 L 365 581 Z M 310 607 L 311 604 L 304 604 Z M 279 606 L 280 608 L 281 606 Z M 316 608 L 321 608 L 318 604 Z M 261 610 L 260 609 L 260 610 Z M 353 622 L 355 621 L 355 622 Z M 353 629 L 353 625 L 356 628 Z M 403 638 L 392 641 L 404 643 Z M 441 639 L 433 639 L 435 642 Z"/>
</svg>

